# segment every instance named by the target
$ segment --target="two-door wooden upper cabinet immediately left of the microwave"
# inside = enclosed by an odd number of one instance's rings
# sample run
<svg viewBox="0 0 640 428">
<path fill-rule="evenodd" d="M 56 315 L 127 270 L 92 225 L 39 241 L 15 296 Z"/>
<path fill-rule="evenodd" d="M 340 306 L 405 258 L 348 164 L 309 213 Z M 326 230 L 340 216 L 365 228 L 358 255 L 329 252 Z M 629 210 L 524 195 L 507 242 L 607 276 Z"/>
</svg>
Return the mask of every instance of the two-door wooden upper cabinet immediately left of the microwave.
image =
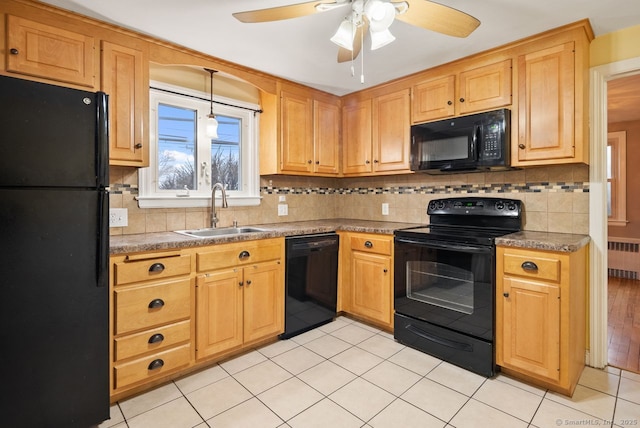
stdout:
<svg viewBox="0 0 640 428">
<path fill-rule="evenodd" d="M 408 89 L 346 103 L 342 120 L 344 175 L 410 171 Z"/>
</svg>

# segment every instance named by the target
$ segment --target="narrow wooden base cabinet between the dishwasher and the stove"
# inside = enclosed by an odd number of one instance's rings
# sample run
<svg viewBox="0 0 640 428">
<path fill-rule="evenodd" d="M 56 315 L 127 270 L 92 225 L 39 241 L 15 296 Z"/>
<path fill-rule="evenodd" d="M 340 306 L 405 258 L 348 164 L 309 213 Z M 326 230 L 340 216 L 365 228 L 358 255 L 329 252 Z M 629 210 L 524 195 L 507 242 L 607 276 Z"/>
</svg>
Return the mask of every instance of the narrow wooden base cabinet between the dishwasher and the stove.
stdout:
<svg viewBox="0 0 640 428">
<path fill-rule="evenodd" d="M 342 309 L 393 329 L 393 236 L 340 233 Z"/>
</svg>

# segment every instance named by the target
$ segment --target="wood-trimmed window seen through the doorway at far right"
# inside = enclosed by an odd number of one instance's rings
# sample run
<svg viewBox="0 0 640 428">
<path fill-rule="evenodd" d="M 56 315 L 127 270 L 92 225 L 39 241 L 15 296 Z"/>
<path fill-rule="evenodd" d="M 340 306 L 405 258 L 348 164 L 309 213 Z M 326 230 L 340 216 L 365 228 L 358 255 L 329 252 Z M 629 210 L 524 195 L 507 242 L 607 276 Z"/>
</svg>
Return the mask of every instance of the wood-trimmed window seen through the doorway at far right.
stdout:
<svg viewBox="0 0 640 428">
<path fill-rule="evenodd" d="M 607 138 L 607 216 L 610 226 L 627 224 L 627 133 Z"/>
</svg>

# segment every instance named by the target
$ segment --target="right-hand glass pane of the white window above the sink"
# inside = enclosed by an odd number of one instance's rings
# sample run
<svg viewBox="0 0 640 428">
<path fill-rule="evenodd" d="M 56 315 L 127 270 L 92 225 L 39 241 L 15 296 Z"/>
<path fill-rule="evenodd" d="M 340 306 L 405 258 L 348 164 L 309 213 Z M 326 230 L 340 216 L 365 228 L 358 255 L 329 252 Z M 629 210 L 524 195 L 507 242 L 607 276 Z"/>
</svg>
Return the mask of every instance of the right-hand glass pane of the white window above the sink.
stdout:
<svg viewBox="0 0 640 428">
<path fill-rule="evenodd" d="M 218 116 L 218 138 L 211 140 L 212 183 L 222 183 L 227 190 L 242 188 L 240 169 L 240 141 L 242 120 L 235 117 Z"/>
</svg>

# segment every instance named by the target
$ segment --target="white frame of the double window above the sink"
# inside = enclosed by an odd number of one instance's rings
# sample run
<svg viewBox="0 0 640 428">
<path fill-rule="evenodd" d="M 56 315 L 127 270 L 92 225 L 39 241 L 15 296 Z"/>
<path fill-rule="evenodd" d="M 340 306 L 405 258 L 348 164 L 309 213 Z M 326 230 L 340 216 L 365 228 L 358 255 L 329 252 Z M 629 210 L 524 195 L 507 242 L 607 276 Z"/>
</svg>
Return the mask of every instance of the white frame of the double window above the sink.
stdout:
<svg viewBox="0 0 640 428">
<path fill-rule="evenodd" d="M 197 110 L 196 152 L 202 157 L 203 149 L 211 139 L 205 135 L 206 117 L 210 111 L 209 94 L 163 82 L 150 82 L 149 89 L 149 166 L 140 168 L 138 173 L 139 194 L 136 198 L 140 208 L 192 208 L 211 206 L 211 186 L 207 183 L 202 168 L 195 165 L 199 186 L 206 183 L 208 188 L 199 188 L 188 192 L 184 190 L 159 191 L 156 187 L 158 168 L 158 104 L 169 104 Z M 242 120 L 241 135 L 241 190 L 227 191 L 229 206 L 260 205 L 259 170 L 259 126 L 260 116 L 256 113 L 259 106 L 244 101 L 214 95 L 213 112 L 220 116 L 238 117 Z M 209 161 L 210 163 L 210 157 Z M 210 181 L 210 179 L 209 179 Z M 220 198 L 218 192 L 216 200 Z"/>
</svg>

